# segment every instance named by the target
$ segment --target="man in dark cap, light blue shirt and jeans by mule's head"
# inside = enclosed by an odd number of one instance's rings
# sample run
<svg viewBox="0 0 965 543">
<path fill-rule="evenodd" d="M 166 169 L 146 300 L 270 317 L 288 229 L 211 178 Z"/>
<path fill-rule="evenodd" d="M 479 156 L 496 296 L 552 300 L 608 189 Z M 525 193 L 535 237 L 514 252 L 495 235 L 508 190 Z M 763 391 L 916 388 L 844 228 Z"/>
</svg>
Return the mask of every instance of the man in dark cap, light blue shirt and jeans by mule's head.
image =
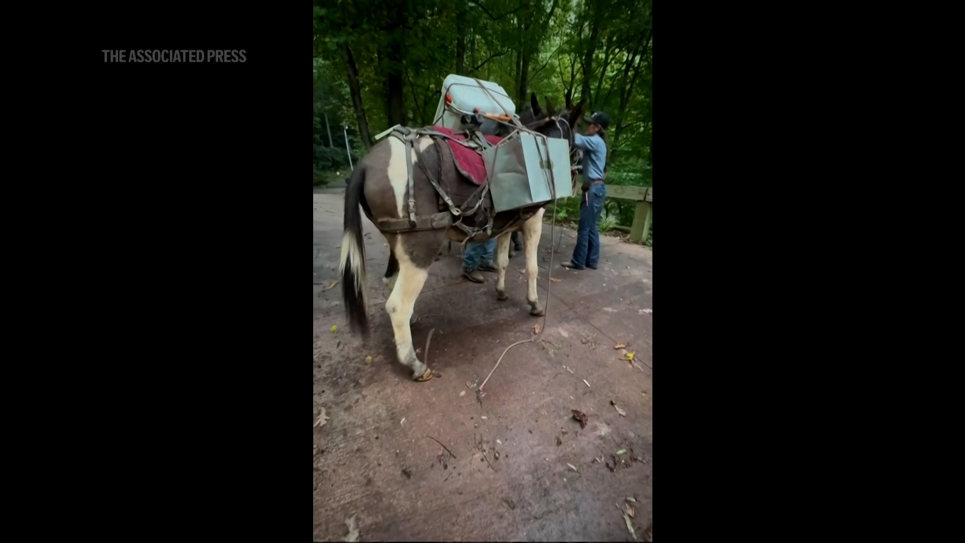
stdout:
<svg viewBox="0 0 965 543">
<path fill-rule="evenodd" d="M 606 170 L 606 129 L 610 117 L 606 113 L 593 113 L 586 135 L 573 134 L 573 144 L 583 150 L 583 195 L 580 201 L 580 225 L 576 229 L 576 246 L 573 258 L 563 267 L 567 270 L 596 270 L 600 260 L 600 234 L 596 221 L 603 211 L 606 186 L 603 172 Z"/>
</svg>

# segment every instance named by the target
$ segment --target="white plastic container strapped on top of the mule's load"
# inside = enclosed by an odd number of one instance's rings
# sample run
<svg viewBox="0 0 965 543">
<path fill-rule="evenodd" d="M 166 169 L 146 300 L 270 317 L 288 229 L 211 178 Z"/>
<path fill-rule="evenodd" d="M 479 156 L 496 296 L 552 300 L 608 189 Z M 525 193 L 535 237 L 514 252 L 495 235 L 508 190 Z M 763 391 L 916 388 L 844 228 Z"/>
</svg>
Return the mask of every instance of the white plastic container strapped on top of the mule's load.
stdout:
<svg viewBox="0 0 965 543">
<path fill-rule="evenodd" d="M 488 90 L 486 93 L 480 83 Z M 465 129 L 462 125 L 462 114 L 446 107 L 446 95 L 453 100 L 452 105 L 456 109 L 472 114 L 479 108 L 480 113 L 490 113 L 493 115 L 516 114 L 516 106 L 510 100 L 509 94 L 492 81 L 477 82 L 472 77 L 450 74 L 442 82 L 442 96 L 439 97 L 439 107 L 435 110 L 435 122 L 433 125 L 445 127 L 447 129 Z M 505 108 L 505 111 L 504 111 Z"/>
</svg>

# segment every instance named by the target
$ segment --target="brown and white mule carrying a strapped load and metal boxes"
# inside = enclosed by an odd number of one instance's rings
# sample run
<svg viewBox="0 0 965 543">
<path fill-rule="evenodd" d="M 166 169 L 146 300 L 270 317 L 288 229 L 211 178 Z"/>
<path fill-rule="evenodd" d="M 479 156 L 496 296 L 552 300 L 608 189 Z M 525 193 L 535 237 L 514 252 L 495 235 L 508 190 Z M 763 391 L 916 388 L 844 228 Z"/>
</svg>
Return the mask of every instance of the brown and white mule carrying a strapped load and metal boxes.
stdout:
<svg viewBox="0 0 965 543">
<path fill-rule="evenodd" d="M 531 97 L 531 105 L 520 114 L 520 122 L 529 129 L 547 137 L 566 138 L 572 142 L 572 133 L 583 114 L 583 102 L 572 111 L 557 113 L 547 100 L 545 111 L 539 107 L 536 95 Z M 484 131 L 493 133 L 493 126 L 483 126 Z M 505 127 L 504 131 L 510 131 Z M 497 132 L 497 135 L 503 135 Z M 432 139 L 423 136 L 415 145 L 425 160 L 433 162 L 429 168 L 438 165 L 438 154 Z M 412 151 L 412 162 L 417 157 Z M 408 174 L 405 162 L 405 144 L 396 137 L 386 137 L 372 147 L 368 155 L 357 164 L 352 173 L 351 183 L 345 189 L 345 230 L 342 240 L 342 292 L 345 298 L 345 312 L 352 331 L 368 334 L 369 318 L 366 292 L 365 245 L 362 239 L 362 218 L 359 206 L 374 224 L 379 219 L 403 218 L 407 216 Z M 455 168 L 454 168 L 455 169 Z M 438 197 L 435 188 L 426 178 L 422 167 L 412 168 L 415 189 L 416 214 L 427 216 L 439 213 Z M 453 172 L 455 174 L 455 172 Z M 445 174 L 445 172 L 444 172 Z M 455 174 L 457 175 L 457 174 Z M 496 299 L 508 300 L 506 294 L 506 268 L 509 265 L 510 235 L 522 231 L 526 250 L 526 300 L 530 304 L 531 315 L 543 315 L 537 294 L 537 272 L 539 236 L 541 234 L 544 209 L 538 207 L 532 216 L 513 224 L 512 219 L 519 210 L 496 214 L 493 221 L 492 236 L 496 238 Z M 416 357 L 409 329 L 412 310 L 419 293 L 428 277 L 428 269 L 439 254 L 442 244 L 448 240 L 462 242 L 466 235 L 454 226 L 436 230 L 390 233 L 382 232 L 389 245 L 389 267 L 383 282 L 392 291 L 385 304 L 395 331 L 396 353 L 399 361 L 412 370 L 416 381 L 431 379 L 432 372 L 427 365 Z"/>
</svg>

